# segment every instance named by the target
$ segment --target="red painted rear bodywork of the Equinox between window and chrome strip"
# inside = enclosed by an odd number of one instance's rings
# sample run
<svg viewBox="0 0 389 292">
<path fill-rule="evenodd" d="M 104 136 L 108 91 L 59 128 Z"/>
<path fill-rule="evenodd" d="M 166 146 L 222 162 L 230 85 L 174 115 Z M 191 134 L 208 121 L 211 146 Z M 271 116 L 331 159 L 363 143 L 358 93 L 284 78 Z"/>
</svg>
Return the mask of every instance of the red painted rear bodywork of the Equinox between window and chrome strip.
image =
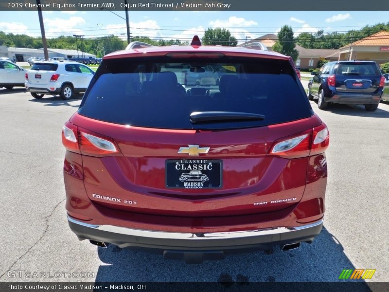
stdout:
<svg viewBox="0 0 389 292">
<path fill-rule="evenodd" d="M 70 122 L 112 138 L 121 151 L 119 156 L 83 155 L 82 164 L 80 154 L 67 152 L 67 168 L 69 164 L 84 167 L 84 183 L 78 172 L 65 172 L 65 184 L 72 185 L 67 188 L 67 210 L 75 218 L 81 219 L 80 214 L 95 224 L 149 230 L 220 232 L 267 228 L 276 222 L 278 226 L 298 226 L 323 217 L 327 171 L 318 165 L 325 156 L 285 159 L 268 154 L 275 140 L 320 125 L 316 115 L 262 128 L 197 132 L 126 127 L 77 113 Z M 222 188 L 177 190 L 165 186 L 165 160 L 193 159 L 177 154 L 180 146 L 192 144 L 210 146 L 206 158 L 223 160 Z M 229 147 L 227 153 L 212 152 Z M 93 198 L 92 194 L 121 202 Z M 90 205 L 74 207 L 73 197 Z M 254 205 L 289 198 L 297 200 Z M 124 204 L 124 200 L 136 204 Z"/>
</svg>

